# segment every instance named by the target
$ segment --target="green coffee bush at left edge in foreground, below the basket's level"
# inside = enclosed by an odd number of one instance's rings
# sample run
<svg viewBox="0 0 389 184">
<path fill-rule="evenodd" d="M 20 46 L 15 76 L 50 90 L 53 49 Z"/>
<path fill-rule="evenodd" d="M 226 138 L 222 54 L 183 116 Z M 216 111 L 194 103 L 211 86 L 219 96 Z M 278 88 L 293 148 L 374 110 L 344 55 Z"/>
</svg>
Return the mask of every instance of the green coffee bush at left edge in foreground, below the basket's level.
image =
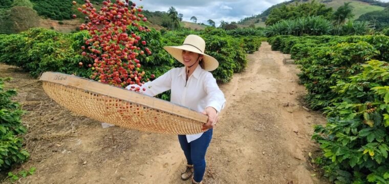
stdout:
<svg viewBox="0 0 389 184">
<path fill-rule="evenodd" d="M 21 149 L 23 146 L 19 134 L 26 133 L 20 116 L 24 113 L 20 105 L 11 100 L 16 90 L 4 89 L 4 82 L 10 80 L 0 78 L 0 170 L 9 169 L 13 164 L 22 163 L 30 154 Z"/>
</svg>

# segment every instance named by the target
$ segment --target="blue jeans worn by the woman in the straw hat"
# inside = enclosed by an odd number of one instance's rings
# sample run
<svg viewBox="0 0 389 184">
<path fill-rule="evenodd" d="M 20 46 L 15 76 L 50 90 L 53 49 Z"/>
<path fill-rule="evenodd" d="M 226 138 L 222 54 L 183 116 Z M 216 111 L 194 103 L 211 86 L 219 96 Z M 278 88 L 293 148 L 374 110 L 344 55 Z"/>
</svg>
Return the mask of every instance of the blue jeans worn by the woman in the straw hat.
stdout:
<svg viewBox="0 0 389 184">
<path fill-rule="evenodd" d="M 205 131 L 199 139 L 188 143 L 185 135 L 178 135 L 178 141 L 184 151 L 188 165 L 193 165 L 193 179 L 196 182 L 203 180 L 205 173 L 205 153 L 212 139 L 213 129 Z"/>
</svg>

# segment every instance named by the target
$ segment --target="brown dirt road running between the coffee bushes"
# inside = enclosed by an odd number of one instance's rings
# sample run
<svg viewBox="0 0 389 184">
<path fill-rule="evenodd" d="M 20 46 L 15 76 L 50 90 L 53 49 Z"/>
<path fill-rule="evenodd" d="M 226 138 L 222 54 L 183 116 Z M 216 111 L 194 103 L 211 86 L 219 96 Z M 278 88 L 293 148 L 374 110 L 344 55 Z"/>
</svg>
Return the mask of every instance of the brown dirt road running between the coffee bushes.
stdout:
<svg viewBox="0 0 389 184">
<path fill-rule="evenodd" d="M 205 183 L 323 183 L 307 159 L 316 147 L 312 126 L 325 119 L 297 101 L 305 89 L 285 57 L 263 42 L 249 55 L 246 72 L 220 86 L 227 106 L 208 148 Z M 180 180 L 185 157 L 177 136 L 103 129 L 51 101 L 39 81 L 1 64 L 0 77 L 10 76 L 9 86 L 19 91 L 15 99 L 29 110 L 31 153 L 14 172 L 37 168 L 21 183 L 190 183 Z"/>
</svg>

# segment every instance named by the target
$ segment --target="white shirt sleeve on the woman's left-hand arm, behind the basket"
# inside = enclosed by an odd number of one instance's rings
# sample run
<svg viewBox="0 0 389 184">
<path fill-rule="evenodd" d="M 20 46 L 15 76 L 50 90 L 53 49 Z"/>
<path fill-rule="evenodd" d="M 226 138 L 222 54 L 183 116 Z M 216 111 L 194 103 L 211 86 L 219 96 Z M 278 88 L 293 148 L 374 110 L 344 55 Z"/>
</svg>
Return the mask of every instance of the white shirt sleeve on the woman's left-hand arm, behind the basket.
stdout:
<svg viewBox="0 0 389 184">
<path fill-rule="evenodd" d="M 132 85 L 128 85 L 125 88 L 131 89 L 132 86 L 140 87 L 141 93 L 154 97 L 158 94 L 163 93 L 164 91 L 171 89 L 172 70 L 169 70 L 168 72 L 161 75 L 154 81 L 149 81 L 144 83 L 142 86 L 139 86 L 138 84 L 132 84 Z M 146 90 L 143 91 L 142 90 L 143 88 L 145 88 Z"/>
</svg>

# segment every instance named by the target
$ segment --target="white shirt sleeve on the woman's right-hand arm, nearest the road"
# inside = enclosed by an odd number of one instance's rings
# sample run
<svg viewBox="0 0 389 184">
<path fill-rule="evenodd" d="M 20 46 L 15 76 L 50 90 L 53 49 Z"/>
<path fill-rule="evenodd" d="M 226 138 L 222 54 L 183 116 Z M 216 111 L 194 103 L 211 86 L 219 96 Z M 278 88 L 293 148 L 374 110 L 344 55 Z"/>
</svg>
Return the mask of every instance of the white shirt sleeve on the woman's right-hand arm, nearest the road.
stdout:
<svg viewBox="0 0 389 184">
<path fill-rule="evenodd" d="M 226 99 L 224 98 L 223 91 L 220 90 L 216 79 L 213 78 L 211 73 L 207 73 L 204 80 L 204 89 L 207 93 L 206 107 L 213 107 L 218 113 L 224 108 Z"/>
</svg>

